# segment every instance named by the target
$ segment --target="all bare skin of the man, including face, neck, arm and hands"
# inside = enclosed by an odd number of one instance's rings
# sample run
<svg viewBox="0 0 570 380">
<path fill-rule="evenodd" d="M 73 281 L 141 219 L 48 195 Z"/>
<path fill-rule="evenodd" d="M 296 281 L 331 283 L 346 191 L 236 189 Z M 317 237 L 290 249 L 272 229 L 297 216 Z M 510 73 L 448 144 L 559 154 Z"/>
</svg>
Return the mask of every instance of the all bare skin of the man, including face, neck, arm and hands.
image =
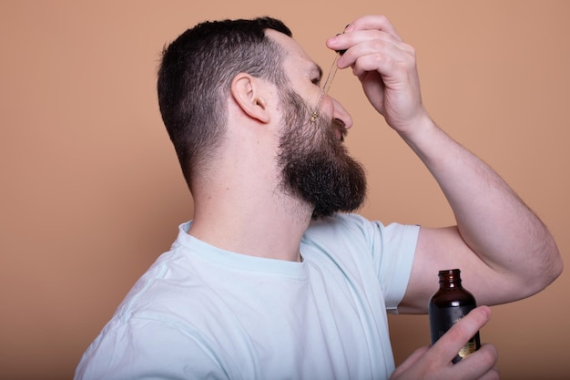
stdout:
<svg viewBox="0 0 570 380">
<path fill-rule="evenodd" d="M 290 87 L 308 105 L 316 105 L 319 67 L 290 37 L 266 33 L 287 52 L 283 66 Z M 442 268 L 469 268 L 463 282 L 481 304 L 512 302 L 554 281 L 563 264 L 550 232 L 493 169 L 433 122 L 422 105 L 414 50 L 392 24 L 384 16 L 361 17 L 328 39 L 327 46 L 346 49 L 337 65 L 352 70 L 372 107 L 422 159 L 457 221 L 452 227 L 422 227 L 400 312 L 427 312 L 434 273 Z M 300 239 L 312 206 L 280 187 L 277 155 L 279 137 L 287 133 L 281 120 L 287 115 L 278 88 L 240 73 L 232 82 L 228 110 L 228 133 L 218 159 L 208 177 L 192 184 L 195 215 L 188 233 L 232 252 L 300 261 Z M 321 115 L 340 119 L 347 129 L 352 126 L 350 114 L 334 98 L 324 98 Z M 392 379 L 498 378 L 491 344 L 451 364 L 490 316 L 487 306 L 474 309 L 433 347 L 412 354 Z"/>
</svg>

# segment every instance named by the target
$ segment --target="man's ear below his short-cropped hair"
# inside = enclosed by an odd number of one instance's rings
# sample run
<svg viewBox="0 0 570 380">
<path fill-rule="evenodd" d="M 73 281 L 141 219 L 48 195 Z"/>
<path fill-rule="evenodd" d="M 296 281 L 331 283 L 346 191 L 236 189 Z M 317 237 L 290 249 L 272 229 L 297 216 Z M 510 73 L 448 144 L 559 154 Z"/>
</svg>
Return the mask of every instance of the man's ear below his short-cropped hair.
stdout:
<svg viewBox="0 0 570 380">
<path fill-rule="evenodd" d="M 250 118 L 257 118 L 262 123 L 270 122 L 270 112 L 264 98 L 264 84 L 257 77 L 239 73 L 231 81 L 231 95 Z"/>
</svg>

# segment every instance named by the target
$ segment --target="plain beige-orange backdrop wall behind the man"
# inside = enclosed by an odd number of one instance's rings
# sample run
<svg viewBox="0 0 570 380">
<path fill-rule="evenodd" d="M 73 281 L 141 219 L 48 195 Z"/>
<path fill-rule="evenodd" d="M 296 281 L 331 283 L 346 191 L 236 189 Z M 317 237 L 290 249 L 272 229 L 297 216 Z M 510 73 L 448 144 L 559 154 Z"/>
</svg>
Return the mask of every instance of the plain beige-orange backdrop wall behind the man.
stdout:
<svg viewBox="0 0 570 380">
<path fill-rule="evenodd" d="M 416 47 L 433 118 L 512 184 L 567 262 L 570 2 L 2 0 L 0 378 L 71 378 L 191 218 L 155 95 L 165 43 L 205 19 L 274 15 L 329 67 L 325 38 L 372 13 L 390 16 Z M 434 181 L 351 73 L 337 74 L 331 95 L 353 115 L 348 144 L 370 175 L 362 212 L 452 223 Z M 494 307 L 482 338 L 500 350 L 504 379 L 569 378 L 569 283 L 565 272 L 544 293 Z M 398 362 L 428 344 L 426 317 L 391 323 Z"/>
</svg>

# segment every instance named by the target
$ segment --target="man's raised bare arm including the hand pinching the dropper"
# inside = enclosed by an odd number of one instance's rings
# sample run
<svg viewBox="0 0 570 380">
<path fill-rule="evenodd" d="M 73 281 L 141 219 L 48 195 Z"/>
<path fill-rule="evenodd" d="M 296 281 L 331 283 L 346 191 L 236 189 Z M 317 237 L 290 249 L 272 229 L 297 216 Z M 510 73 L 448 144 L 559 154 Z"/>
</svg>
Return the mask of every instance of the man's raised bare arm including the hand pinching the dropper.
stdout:
<svg viewBox="0 0 570 380">
<path fill-rule="evenodd" d="M 562 271 L 545 225 L 493 169 L 451 139 L 422 106 L 415 52 L 383 16 L 364 16 L 331 38 L 347 49 L 371 104 L 422 159 L 449 201 L 457 225 L 422 228 L 402 313 L 425 313 L 442 269 L 460 268 L 479 303 L 506 303 L 544 289 Z"/>
</svg>

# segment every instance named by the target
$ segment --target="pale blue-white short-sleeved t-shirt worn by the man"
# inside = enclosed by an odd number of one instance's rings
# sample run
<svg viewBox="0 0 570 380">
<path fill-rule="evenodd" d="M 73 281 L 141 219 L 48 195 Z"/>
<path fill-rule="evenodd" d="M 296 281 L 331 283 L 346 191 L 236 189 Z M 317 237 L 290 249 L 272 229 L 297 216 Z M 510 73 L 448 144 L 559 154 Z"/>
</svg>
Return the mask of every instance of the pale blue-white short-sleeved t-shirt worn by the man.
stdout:
<svg viewBox="0 0 570 380">
<path fill-rule="evenodd" d="M 386 379 L 386 310 L 402 300 L 418 226 L 338 214 L 303 262 L 219 250 L 179 228 L 91 344 L 79 379 Z M 276 231 L 279 233 L 279 231 Z"/>
</svg>

